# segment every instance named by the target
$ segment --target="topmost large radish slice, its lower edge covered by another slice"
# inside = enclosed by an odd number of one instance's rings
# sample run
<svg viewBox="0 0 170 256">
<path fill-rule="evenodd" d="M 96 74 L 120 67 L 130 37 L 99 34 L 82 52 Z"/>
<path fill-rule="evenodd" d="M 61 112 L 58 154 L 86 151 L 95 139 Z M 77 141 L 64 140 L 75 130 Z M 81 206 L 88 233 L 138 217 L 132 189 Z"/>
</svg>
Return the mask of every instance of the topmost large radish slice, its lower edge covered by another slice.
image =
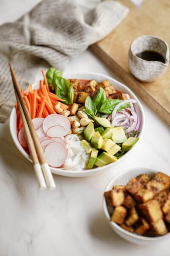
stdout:
<svg viewBox="0 0 170 256">
<path fill-rule="evenodd" d="M 68 120 L 68 118 L 62 115 L 57 115 L 57 114 L 52 114 L 47 116 L 44 119 L 42 126 L 43 126 L 43 131 L 45 133 L 47 133 L 48 129 L 52 126 L 62 126 L 66 130 L 65 135 L 67 135 L 70 132 L 70 128 L 71 128 L 70 121 Z M 59 136 L 56 135 L 55 137 L 59 137 Z"/>
</svg>

